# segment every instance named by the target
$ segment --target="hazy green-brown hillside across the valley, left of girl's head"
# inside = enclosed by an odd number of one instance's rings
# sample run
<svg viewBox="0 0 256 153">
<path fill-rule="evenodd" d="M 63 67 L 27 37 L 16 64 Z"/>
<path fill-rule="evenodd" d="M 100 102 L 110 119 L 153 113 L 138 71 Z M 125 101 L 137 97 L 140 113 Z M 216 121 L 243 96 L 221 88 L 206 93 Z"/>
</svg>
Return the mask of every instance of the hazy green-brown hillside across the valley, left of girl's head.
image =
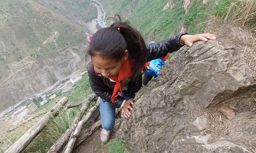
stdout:
<svg viewBox="0 0 256 153">
<path fill-rule="evenodd" d="M 46 2 L 57 5 L 50 7 Z M 66 7 L 69 12 L 62 12 Z M 84 66 L 87 30 L 71 19 L 90 21 L 95 17 L 97 10 L 88 0 L 2 0 L 0 111 Z"/>
</svg>

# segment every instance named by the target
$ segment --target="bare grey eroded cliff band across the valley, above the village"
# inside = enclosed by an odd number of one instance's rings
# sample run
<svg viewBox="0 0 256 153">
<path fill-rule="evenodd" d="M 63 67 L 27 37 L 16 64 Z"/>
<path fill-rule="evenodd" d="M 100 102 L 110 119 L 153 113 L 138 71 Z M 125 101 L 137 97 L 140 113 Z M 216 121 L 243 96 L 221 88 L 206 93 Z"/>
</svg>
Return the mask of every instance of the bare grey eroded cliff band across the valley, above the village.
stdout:
<svg viewBox="0 0 256 153">
<path fill-rule="evenodd" d="M 35 93 L 49 90 L 57 81 L 69 78 L 78 68 L 85 66 L 84 45 L 66 48 L 56 58 L 39 60 L 12 76 L 1 85 L 1 106 L 27 100 Z"/>
</svg>

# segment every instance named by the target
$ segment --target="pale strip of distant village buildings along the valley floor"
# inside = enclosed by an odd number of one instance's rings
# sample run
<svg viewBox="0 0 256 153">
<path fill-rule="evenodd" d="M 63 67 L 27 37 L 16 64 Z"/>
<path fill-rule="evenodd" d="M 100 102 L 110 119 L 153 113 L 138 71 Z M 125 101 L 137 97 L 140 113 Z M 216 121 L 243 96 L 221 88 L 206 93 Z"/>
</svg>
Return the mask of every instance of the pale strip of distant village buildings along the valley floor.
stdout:
<svg viewBox="0 0 256 153">
<path fill-rule="evenodd" d="M 51 100 L 53 100 L 57 95 L 55 94 L 57 91 L 60 91 L 61 93 L 65 93 L 69 90 L 71 90 L 73 88 L 73 84 L 75 84 L 78 80 L 82 79 L 82 76 L 84 74 L 86 74 L 87 71 L 81 73 L 81 74 L 76 74 L 75 76 L 72 76 L 69 78 L 69 81 L 67 81 L 65 84 L 60 83 L 59 86 L 57 86 L 57 88 L 55 88 L 55 90 L 53 90 L 51 93 L 49 94 L 44 94 L 41 95 L 40 97 L 38 97 L 41 101 L 39 102 L 40 106 L 45 105 L 47 102 L 50 102 Z M 4 114 L 4 116 L 1 116 L 0 118 L 0 122 L 3 121 L 4 119 L 8 120 L 10 118 L 15 118 L 12 123 L 16 124 L 19 121 L 21 121 L 24 116 L 26 114 L 29 114 L 30 112 L 33 112 L 37 105 L 32 102 L 33 100 L 27 100 L 26 102 L 29 103 L 31 102 L 31 104 L 29 105 L 25 105 L 25 106 L 21 106 L 19 107 L 19 109 L 17 109 L 16 111 L 12 112 L 12 113 L 6 113 Z M 2 118 L 5 117 L 5 118 Z"/>
</svg>

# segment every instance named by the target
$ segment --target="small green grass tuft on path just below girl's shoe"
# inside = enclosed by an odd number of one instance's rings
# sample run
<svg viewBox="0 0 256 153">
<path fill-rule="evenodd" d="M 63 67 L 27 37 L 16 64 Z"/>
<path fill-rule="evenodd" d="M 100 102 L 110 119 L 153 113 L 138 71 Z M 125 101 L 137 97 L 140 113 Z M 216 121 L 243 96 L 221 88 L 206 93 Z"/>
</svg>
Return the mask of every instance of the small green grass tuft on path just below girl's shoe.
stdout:
<svg viewBox="0 0 256 153">
<path fill-rule="evenodd" d="M 110 139 L 107 147 L 109 148 L 109 153 L 128 153 L 123 141 L 120 139 Z"/>
</svg>

